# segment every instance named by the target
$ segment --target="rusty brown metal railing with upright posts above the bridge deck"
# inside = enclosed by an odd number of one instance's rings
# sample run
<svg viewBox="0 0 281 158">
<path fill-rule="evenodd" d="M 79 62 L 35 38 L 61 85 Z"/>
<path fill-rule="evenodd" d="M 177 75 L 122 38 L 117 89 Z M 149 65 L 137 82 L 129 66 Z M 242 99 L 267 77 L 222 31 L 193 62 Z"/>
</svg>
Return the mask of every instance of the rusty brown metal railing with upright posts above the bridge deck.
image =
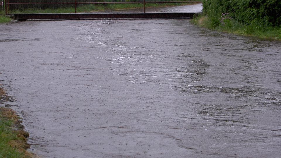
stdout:
<svg viewBox="0 0 281 158">
<path fill-rule="evenodd" d="M 143 13 L 145 13 L 145 4 L 147 3 L 201 3 L 201 1 L 138 1 L 138 2 L 77 2 L 78 0 L 75 0 L 74 2 L 43 2 L 43 3 L 24 3 L 24 2 L 16 2 L 16 3 L 10 3 L 9 0 L 5 0 L 5 13 L 8 13 L 8 8 L 10 4 L 13 5 L 21 5 L 21 4 L 73 4 L 75 8 L 75 13 L 76 13 L 76 8 L 78 4 L 143 4 Z"/>
</svg>

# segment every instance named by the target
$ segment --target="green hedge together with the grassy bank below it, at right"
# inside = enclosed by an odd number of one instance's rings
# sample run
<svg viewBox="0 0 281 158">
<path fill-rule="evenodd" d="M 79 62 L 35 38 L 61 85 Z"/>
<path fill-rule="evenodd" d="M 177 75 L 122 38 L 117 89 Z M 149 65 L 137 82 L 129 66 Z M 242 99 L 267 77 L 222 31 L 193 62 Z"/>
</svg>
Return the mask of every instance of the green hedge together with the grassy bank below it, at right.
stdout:
<svg viewBox="0 0 281 158">
<path fill-rule="evenodd" d="M 237 35 L 281 40 L 280 0 L 203 0 L 203 14 L 191 22 Z"/>
</svg>

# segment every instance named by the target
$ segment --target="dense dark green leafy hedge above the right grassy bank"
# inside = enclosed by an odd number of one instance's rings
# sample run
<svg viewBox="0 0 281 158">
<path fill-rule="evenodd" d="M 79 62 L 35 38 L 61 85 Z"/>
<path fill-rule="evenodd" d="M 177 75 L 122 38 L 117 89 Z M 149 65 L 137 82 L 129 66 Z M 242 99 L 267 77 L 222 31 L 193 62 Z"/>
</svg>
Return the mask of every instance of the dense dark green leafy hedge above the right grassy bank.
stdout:
<svg viewBox="0 0 281 158">
<path fill-rule="evenodd" d="M 281 0 L 203 0 L 203 13 L 219 25 L 222 13 L 244 24 L 281 26 Z"/>
</svg>

